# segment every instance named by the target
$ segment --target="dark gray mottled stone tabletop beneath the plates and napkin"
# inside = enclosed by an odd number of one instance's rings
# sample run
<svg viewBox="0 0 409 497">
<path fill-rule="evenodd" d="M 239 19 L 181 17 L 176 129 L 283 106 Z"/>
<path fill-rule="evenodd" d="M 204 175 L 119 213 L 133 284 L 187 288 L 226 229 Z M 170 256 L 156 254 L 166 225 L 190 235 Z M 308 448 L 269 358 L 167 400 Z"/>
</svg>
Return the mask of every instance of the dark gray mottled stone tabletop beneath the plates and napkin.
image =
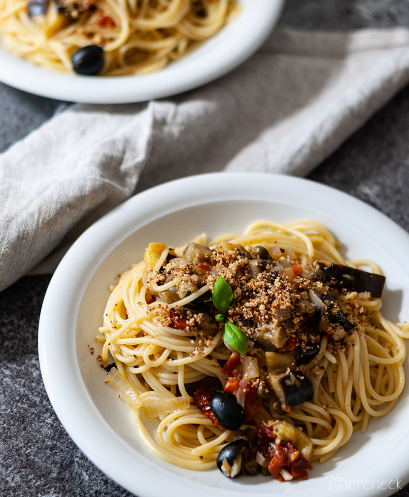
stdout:
<svg viewBox="0 0 409 497">
<path fill-rule="evenodd" d="M 409 2 L 289 0 L 281 22 L 308 29 L 409 26 Z M 59 106 L 0 84 L 0 151 Z M 368 202 L 409 231 L 408 167 L 406 87 L 309 177 Z M 0 293 L 0 495 L 130 497 L 76 447 L 48 401 L 37 329 L 49 280 L 24 277 Z M 408 495 L 409 486 L 396 494 Z"/>
</svg>

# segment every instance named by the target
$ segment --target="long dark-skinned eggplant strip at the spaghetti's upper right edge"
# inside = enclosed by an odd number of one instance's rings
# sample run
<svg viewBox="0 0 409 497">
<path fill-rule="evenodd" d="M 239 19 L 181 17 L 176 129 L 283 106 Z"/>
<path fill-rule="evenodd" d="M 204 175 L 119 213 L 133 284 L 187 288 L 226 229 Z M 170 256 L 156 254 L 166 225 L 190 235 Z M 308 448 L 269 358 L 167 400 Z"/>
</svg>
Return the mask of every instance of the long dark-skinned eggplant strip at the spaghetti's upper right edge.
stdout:
<svg viewBox="0 0 409 497">
<path fill-rule="evenodd" d="M 379 298 L 385 285 L 385 276 L 369 273 L 362 269 L 344 266 L 342 264 L 320 264 L 325 274 L 325 281 L 334 288 L 345 288 L 355 292 L 369 292 L 371 297 Z"/>
</svg>

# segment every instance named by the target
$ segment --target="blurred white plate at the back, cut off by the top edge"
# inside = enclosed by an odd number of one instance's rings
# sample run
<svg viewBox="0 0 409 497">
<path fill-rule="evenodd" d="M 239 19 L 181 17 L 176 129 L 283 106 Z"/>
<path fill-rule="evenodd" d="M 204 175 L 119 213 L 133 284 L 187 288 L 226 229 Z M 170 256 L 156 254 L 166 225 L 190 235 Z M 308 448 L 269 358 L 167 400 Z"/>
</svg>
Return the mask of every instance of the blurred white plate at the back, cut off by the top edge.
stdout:
<svg viewBox="0 0 409 497">
<path fill-rule="evenodd" d="M 0 81 L 41 96 L 83 103 L 130 103 L 168 97 L 235 69 L 266 40 L 284 0 L 240 0 L 242 11 L 213 38 L 162 71 L 144 76 L 85 77 L 32 65 L 0 49 Z"/>
</svg>

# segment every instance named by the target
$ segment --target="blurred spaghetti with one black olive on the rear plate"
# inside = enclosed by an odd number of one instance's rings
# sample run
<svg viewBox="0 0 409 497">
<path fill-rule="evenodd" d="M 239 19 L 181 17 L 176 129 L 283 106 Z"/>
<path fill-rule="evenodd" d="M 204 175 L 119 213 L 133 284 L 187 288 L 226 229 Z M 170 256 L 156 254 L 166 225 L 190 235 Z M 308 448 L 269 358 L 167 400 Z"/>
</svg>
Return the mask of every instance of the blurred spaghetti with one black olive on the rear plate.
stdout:
<svg viewBox="0 0 409 497">
<path fill-rule="evenodd" d="M 236 0 L 0 0 L 0 42 L 51 70 L 145 74 L 215 35 L 237 11 Z"/>
</svg>

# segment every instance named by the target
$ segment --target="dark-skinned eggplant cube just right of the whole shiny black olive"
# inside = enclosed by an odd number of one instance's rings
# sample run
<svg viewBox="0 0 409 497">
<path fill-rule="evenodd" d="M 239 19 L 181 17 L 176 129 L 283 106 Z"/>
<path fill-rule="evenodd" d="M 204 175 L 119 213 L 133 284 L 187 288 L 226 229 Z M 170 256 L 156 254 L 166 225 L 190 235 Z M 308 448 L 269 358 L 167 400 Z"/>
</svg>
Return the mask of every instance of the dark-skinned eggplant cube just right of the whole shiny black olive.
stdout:
<svg viewBox="0 0 409 497">
<path fill-rule="evenodd" d="M 272 376 L 270 383 L 282 406 L 298 406 L 314 396 L 313 384 L 299 371 Z"/>
</svg>

